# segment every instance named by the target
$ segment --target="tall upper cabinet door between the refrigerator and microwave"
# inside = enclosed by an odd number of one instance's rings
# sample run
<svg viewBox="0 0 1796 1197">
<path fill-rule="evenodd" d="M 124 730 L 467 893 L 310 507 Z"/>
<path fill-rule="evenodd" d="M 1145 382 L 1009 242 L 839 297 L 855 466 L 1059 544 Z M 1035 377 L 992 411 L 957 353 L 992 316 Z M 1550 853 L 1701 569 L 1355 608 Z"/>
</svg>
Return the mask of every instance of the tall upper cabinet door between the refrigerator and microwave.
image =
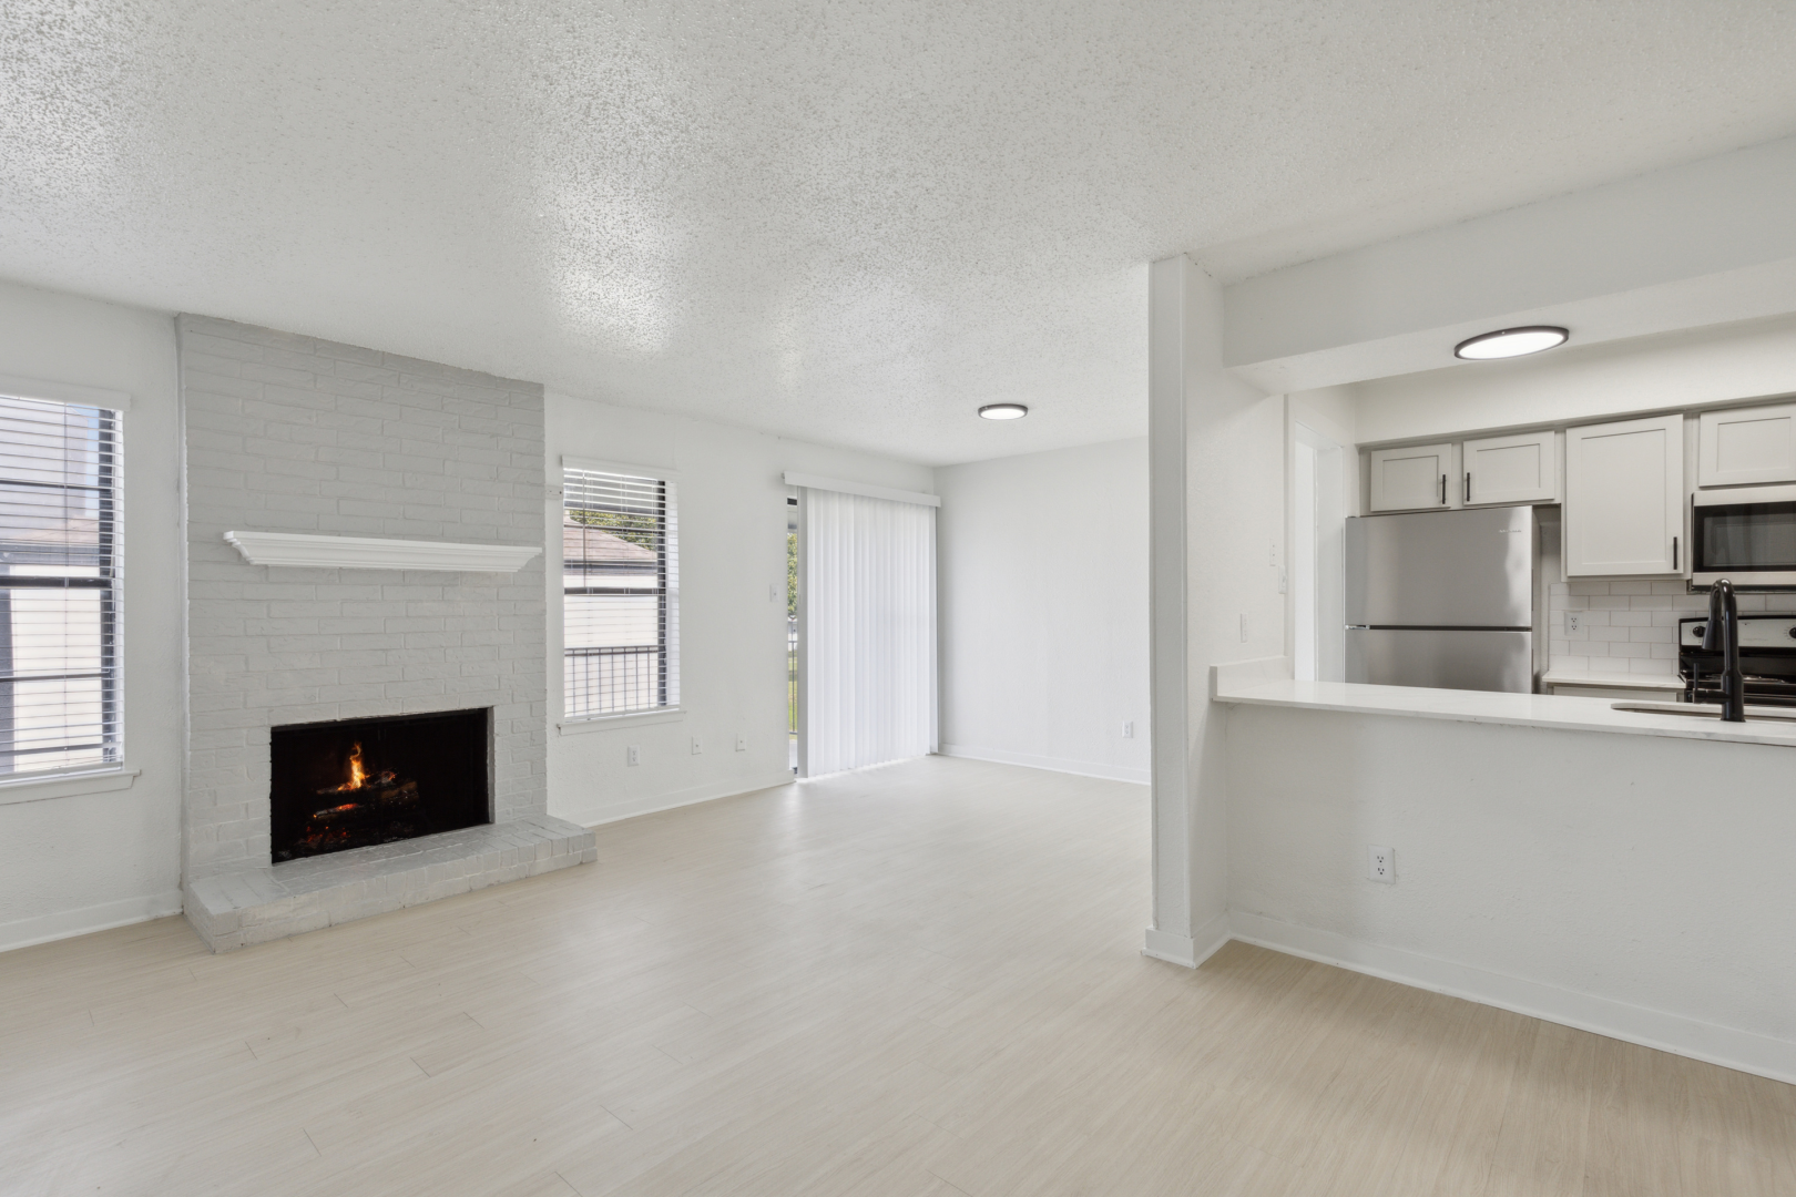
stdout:
<svg viewBox="0 0 1796 1197">
<path fill-rule="evenodd" d="M 1683 495 L 1681 415 L 1566 429 L 1566 576 L 1679 572 Z"/>
</svg>

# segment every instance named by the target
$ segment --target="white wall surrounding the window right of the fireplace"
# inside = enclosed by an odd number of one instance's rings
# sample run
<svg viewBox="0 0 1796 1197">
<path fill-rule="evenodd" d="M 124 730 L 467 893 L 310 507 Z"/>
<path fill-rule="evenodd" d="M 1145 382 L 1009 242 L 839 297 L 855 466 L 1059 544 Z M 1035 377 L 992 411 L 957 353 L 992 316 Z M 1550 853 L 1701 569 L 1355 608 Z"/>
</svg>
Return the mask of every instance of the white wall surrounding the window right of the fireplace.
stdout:
<svg viewBox="0 0 1796 1197">
<path fill-rule="evenodd" d="M 585 458 L 677 472 L 681 707 L 559 730 L 560 578 L 550 571 L 550 813 L 600 824 L 792 781 L 787 765 L 785 470 L 932 490 L 929 467 L 634 407 L 548 395 L 548 467 Z M 560 544 L 560 506 L 544 508 Z M 573 725 L 571 725 L 573 727 Z M 736 736 L 749 747 L 736 752 Z M 700 754 L 691 752 L 699 738 Z M 627 765 L 627 747 L 641 765 Z"/>
</svg>

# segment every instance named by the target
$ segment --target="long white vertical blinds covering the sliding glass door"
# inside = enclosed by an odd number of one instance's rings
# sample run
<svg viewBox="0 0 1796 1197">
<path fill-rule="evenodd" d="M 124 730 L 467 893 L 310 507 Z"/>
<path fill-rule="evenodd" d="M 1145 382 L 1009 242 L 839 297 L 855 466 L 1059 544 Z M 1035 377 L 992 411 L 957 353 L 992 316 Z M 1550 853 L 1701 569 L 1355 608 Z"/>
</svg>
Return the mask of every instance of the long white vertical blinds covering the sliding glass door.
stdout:
<svg viewBox="0 0 1796 1197">
<path fill-rule="evenodd" d="M 805 772 L 936 750 L 936 508 L 805 490 Z"/>
</svg>

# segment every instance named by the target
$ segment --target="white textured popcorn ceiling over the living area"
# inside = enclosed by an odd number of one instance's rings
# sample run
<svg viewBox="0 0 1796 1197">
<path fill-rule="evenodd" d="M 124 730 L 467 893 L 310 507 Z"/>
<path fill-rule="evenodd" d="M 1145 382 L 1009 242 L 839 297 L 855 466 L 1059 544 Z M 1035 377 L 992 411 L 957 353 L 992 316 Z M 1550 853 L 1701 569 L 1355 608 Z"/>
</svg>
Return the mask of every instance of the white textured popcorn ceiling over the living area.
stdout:
<svg viewBox="0 0 1796 1197">
<path fill-rule="evenodd" d="M 964 461 L 1146 429 L 1157 257 L 1782 136 L 1792 48 L 1726 0 L 7 0 L 0 276 Z"/>
</svg>

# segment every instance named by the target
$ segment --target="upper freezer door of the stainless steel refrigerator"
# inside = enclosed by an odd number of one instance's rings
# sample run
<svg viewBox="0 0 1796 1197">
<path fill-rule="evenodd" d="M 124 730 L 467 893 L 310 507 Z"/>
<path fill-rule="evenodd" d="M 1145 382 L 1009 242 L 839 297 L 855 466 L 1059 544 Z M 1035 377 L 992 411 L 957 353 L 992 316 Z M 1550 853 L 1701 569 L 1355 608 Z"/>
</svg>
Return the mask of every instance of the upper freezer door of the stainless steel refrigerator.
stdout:
<svg viewBox="0 0 1796 1197">
<path fill-rule="evenodd" d="M 1534 508 L 1347 520 L 1351 626 L 1534 626 Z"/>
</svg>

